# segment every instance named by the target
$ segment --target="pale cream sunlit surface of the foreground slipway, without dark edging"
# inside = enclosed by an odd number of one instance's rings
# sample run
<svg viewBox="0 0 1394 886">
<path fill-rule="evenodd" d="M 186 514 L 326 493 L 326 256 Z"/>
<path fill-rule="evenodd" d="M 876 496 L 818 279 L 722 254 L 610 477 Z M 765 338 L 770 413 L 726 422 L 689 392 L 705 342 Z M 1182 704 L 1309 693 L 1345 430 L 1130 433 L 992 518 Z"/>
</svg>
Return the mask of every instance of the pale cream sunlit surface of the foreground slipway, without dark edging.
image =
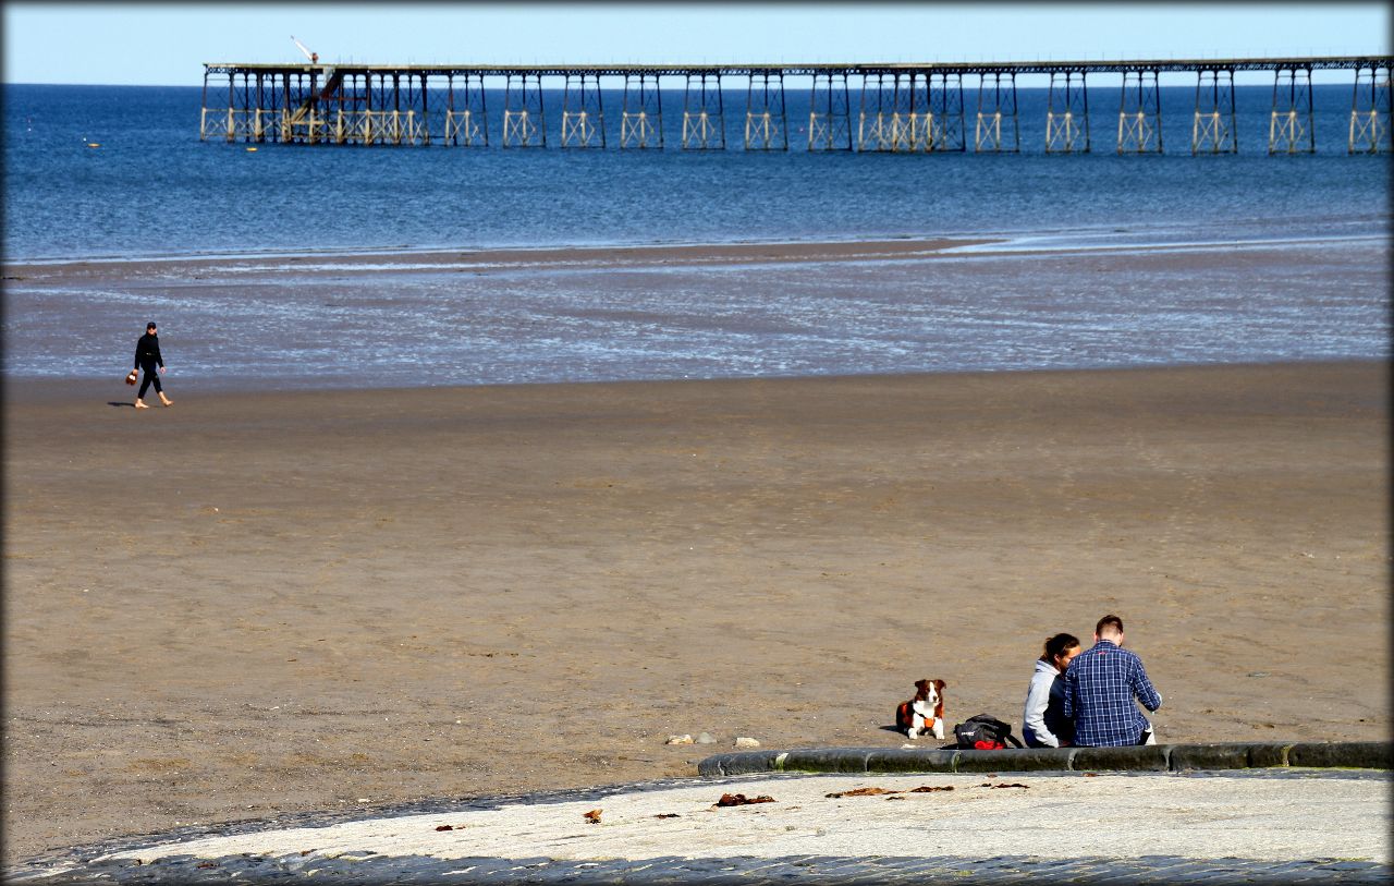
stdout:
<svg viewBox="0 0 1394 886">
<path fill-rule="evenodd" d="M 151 864 L 244 853 L 296 859 L 371 853 L 410 864 L 422 857 L 599 861 L 914 854 L 1388 864 L 1388 787 L 1383 779 L 1174 774 L 778 777 L 194 837 L 106 858 Z M 717 805 L 728 793 L 771 799 Z M 598 813 L 591 816 L 598 820 L 587 819 L 588 812 Z"/>
</svg>

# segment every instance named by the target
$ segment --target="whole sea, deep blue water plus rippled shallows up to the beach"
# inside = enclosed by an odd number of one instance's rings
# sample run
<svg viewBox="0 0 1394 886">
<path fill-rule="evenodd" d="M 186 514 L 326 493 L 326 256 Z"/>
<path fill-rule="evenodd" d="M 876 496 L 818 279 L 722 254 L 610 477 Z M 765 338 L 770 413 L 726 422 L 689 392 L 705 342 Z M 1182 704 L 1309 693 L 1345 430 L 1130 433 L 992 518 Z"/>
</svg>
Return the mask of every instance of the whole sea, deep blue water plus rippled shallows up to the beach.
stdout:
<svg viewBox="0 0 1394 886">
<path fill-rule="evenodd" d="M 199 87 L 7 84 L 7 264 L 259 258 L 286 276 L 240 301 L 188 280 L 152 297 L 7 275 L 4 370 L 109 375 L 156 310 L 170 363 L 208 384 L 248 335 L 284 350 L 291 386 L 1388 357 L 1391 155 L 1348 153 L 1351 85 L 1313 87 L 1316 151 L 1295 155 L 1269 153 L 1271 85 L 1235 88 L 1238 153 L 1200 156 L 1195 87 L 1161 88 L 1147 155 L 1115 151 L 1117 85 L 1090 84 L 1092 151 L 1068 155 L 1046 152 L 1046 88 L 1019 89 L 1019 152 L 974 152 L 973 95 L 963 152 L 807 151 L 796 89 L 788 151 L 743 148 L 744 89 L 719 151 L 679 149 L 682 89 L 664 93 L 661 151 L 618 147 L 619 92 L 604 93 L 606 148 L 555 147 L 560 91 L 544 95 L 553 147 L 365 148 L 201 141 Z M 487 103 L 496 140 L 502 89 Z M 940 237 L 994 243 L 836 271 L 422 266 L 333 296 L 293 273 L 316 255 Z M 1092 272 L 1105 254 L 1138 255 L 1136 273 Z M 276 333 L 286 322 L 315 335 Z M 107 324 L 118 346 L 64 333 Z M 367 350 L 388 326 L 397 346 Z"/>
</svg>

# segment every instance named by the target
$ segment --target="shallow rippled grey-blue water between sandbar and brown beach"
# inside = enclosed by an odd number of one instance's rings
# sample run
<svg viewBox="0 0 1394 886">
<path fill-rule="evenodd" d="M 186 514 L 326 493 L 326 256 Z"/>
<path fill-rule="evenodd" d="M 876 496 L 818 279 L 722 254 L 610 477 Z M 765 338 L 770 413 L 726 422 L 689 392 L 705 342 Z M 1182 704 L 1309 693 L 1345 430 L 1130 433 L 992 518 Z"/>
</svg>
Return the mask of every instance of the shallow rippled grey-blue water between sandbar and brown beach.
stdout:
<svg viewBox="0 0 1394 886">
<path fill-rule="evenodd" d="M 1377 237 L 1096 246 L 874 261 L 585 251 L 542 265 L 49 265 L 7 283 L 4 366 L 11 377 L 114 380 L 146 318 L 160 322 L 170 384 L 204 388 L 1388 357 L 1390 250 Z"/>
</svg>

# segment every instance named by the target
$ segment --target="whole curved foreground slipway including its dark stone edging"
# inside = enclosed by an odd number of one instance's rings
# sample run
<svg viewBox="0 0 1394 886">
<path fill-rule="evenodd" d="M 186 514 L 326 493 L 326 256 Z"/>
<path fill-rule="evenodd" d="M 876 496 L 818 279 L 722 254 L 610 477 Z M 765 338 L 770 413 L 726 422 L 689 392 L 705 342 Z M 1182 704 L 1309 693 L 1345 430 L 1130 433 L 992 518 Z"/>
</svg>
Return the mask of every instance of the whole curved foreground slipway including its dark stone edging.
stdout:
<svg viewBox="0 0 1394 886">
<path fill-rule="evenodd" d="M 1391 758 L 1391 742 L 725 753 L 697 779 L 109 841 L 6 880 L 1386 883 Z"/>
</svg>

